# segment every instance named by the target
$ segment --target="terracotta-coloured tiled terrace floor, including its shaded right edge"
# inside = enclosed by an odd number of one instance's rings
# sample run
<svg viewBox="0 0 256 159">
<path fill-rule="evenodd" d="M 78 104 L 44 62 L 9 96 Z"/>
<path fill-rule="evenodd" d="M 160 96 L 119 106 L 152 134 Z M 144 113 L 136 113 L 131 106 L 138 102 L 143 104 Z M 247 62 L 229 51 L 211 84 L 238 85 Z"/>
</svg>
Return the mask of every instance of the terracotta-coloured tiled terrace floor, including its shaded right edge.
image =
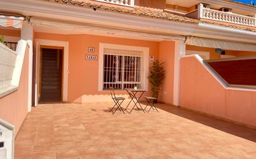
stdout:
<svg viewBox="0 0 256 159">
<path fill-rule="evenodd" d="M 48 104 L 17 135 L 15 159 L 256 158 L 256 131 L 167 105 L 112 115 L 112 103 Z"/>
</svg>

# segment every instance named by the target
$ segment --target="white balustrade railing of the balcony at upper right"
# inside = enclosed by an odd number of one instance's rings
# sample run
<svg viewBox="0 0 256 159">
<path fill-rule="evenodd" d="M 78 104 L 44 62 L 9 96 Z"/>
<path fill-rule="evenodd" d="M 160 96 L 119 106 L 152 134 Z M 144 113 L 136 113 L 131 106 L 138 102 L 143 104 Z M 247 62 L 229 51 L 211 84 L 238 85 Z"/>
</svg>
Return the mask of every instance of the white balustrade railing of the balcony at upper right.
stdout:
<svg viewBox="0 0 256 159">
<path fill-rule="evenodd" d="M 216 11 L 203 7 L 203 4 L 198 5 L 198 18 L 256 27 L 256 15 L 255 17 L 248 17 L 232 12 Z"/>
</svg>

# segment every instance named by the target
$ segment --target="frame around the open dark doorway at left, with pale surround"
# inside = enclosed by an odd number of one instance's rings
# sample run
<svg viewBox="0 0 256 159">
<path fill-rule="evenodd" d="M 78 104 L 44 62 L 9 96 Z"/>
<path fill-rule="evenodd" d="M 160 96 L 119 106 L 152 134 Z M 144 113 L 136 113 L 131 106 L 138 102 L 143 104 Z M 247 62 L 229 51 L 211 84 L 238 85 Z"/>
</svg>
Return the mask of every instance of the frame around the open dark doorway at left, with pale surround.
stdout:
<svg viewBox="0 0 256 159">
<path fill-rule="evenodd" d="M 62 101 L 68 101 L 68 41 L 44 40 L 35 39 L 36 44 L 36 59 L 35 59 L 35 106 L 39 103 L 39 82 L 40 82 L 40 46 L 49 48 L 64 48 L 63 49 L 63 85 L 62 85 Z"/>
</svg>

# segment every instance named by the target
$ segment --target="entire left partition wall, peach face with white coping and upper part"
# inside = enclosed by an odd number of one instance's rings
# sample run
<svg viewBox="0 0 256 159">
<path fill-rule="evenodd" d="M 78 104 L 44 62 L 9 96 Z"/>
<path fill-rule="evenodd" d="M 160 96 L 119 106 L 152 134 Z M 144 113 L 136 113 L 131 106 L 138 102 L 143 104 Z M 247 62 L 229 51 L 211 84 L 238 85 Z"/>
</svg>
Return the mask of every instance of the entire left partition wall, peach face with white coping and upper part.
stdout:
<svg viewBox="0 0 256 159">
<path fill-rule="evenodd" d="M 2 44 L 0 48 L 0 67 L 5 68 L 0 69 L 0 119 L 14 125 L 17 135 L 28 112 L 29 46 L 22 40 L 17 51 Z"/>
</svg>

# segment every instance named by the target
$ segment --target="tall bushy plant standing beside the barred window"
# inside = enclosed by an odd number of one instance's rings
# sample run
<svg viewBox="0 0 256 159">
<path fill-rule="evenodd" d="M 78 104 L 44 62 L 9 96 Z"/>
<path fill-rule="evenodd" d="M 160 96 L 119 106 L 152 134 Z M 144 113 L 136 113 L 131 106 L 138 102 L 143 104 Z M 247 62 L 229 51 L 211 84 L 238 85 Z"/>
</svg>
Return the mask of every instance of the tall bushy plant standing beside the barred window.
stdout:
<svg viewBox="0 0 256 159">
<path fill-rule="evenodd" d="M 151 85 L 152 97 L 158 98 L 161 87 L 163 85 L 163 79 L 165 79 L 165 70 L 163 68 L 164 62 L 154 61 L 153 66 L 150 67 L 150 75 L 148 77 Z M 157 103 L 157 100 L 154 101 Z"/>
</svg>

